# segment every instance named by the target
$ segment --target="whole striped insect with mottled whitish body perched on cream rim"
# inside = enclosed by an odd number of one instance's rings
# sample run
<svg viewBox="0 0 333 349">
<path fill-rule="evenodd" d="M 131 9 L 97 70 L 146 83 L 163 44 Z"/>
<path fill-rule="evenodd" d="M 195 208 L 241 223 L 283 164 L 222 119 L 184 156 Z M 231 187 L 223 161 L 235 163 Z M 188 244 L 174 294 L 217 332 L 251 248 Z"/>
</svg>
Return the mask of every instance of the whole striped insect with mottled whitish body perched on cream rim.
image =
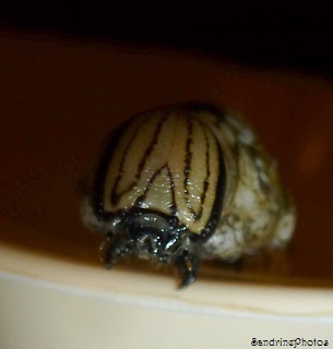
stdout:
<svg viewBox="0 0 333 349">
<path fill-rule="evenodd" d="M 129 119 L 85 188 L 83 220 L 103 233 L 107 266 L 124 256 L 173 264 L 180 288 L 202 260 L 285 248 L 295 226 L 276 161 L 241 117 L 209 104 Z"/>
</svg>

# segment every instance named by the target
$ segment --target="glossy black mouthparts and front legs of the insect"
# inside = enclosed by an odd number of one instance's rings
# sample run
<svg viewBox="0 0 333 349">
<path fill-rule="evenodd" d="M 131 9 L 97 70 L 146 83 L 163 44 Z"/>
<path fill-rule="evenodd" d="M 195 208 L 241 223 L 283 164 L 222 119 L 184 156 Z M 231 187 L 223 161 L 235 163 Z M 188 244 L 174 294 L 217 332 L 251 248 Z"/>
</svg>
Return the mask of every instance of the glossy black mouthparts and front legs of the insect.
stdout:
<svg viewBox="0 0 333 349">
<path fill-rule="evenodd" d="M 176 217 L 148 209 L 134 208 L 115 217 L 112 231 L 106 236 L 106 265 L 111 267 L 121 256 L 174 263 L 180 278 L 179 288 L 195 280 L 200 266 L 198 240 Z"/>
</svg>

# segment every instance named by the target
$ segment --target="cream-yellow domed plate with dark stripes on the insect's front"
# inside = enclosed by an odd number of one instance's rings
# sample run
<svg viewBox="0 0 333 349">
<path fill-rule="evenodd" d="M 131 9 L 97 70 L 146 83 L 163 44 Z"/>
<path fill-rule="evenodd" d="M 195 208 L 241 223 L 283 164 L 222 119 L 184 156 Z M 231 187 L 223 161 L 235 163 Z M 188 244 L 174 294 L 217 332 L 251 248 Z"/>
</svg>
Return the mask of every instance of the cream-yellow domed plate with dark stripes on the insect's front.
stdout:
<svg viewBox="0 0 333 349">
<path fill-rule="evenodd" d="M 141 207 L 210 236 L 223 209 L 226 180 L 211 128 L 216 119 L 202 106 L 174 106 L 138 115 L 115 130 L 96 171 L 96 215 Z"/>
</svg>

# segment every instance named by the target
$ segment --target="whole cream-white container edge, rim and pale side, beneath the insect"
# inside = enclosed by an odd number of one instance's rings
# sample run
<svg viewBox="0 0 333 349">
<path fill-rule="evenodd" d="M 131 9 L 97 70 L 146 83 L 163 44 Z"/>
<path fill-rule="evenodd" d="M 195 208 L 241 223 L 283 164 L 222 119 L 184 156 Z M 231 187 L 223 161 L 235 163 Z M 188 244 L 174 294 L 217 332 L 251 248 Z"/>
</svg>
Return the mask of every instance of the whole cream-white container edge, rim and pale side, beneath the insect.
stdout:
<svg viewBox="0 0 333 349">
<path fill-rule="evenodd" d="M 254 337 L 333 346 L 332 290 L 199 281 L 177 291 L 166 277 L 0 248 L 0 348 L 252 348 Z"/>
</svg>

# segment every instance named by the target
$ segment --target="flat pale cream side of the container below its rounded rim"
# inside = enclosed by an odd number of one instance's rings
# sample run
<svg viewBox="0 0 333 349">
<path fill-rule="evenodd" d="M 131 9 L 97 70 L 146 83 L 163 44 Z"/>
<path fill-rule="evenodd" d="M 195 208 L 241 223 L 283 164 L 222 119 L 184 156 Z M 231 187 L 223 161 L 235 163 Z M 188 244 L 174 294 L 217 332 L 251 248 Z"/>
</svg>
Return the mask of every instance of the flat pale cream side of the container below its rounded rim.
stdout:
<svg viewBox="0 0 333 349">
<path fill-rule="evenodd" d="M 260 339 L 326 339 L 332 323 L 263 320 L 130 304 L 32 279 L 0 279 L 1 348 L 250 348 Z"/>
</svg>

